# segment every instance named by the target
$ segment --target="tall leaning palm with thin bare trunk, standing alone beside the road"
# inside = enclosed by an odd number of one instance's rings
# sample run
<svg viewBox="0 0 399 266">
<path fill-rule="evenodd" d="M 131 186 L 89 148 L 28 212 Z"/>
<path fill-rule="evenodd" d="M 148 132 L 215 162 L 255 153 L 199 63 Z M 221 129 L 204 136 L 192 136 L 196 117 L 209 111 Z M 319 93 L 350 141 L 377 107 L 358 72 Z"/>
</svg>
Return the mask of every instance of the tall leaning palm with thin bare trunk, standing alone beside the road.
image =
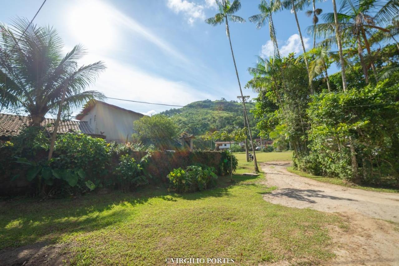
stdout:
<svg viewBox="0 0 399 266">
<path fill-rule="evenodd" d="M 223 23 L 225 23 L 225 25 L 226 25 L 226 34 L 227 34 L 227 38 L 229 39 L 229 43 L 230 43 L 230 50 L 231 50 L 231 56 L 233 57 L 235 74 L 237 75 L 238 87 L 240 89 L 241 97 L 243 99 L 244 118 L 245 118 L 245 121 L 247 122 L 247 126 L 248 126 L 248 133 L 249 133 L 249 138 L 251 141 L 253 157 L 254 157 L 253 161 L 254 161 L 254 165 L 255 165 L 255 171 L 258 172 L 259 168 L 258 168 L 258 164 L 256 161 L 255 147 L 254 147 L 253 141 L 252 141 L 251 126 L 250 126 L 249 120 L 248 120 L 247 109 L 245 107 L 245 98 L 243 95 L 243 90 L 241 89 L 240 78 L 238 76 L 237 65 L 235 63 L 233 46 L 231 45 L 230 31 L 229 31 L 229 21 L 245 23 L 245 20 L 243 18 L 234 15 L 235 12 L 240 10 L 241 3 L 239 0 L 234 0 L 233 3 L 230 3 L 229 0 L 222 0 L 222 2 L 220 2 L 219 0 L 216 0 L 216 4 L 219 7 L 219 13 L 215 14 L 215 16 L 213 16 L 212 18 L 206 19 L 205 23 L 210 24 L 212 26 L 221 25 Z"/>
</svg>

